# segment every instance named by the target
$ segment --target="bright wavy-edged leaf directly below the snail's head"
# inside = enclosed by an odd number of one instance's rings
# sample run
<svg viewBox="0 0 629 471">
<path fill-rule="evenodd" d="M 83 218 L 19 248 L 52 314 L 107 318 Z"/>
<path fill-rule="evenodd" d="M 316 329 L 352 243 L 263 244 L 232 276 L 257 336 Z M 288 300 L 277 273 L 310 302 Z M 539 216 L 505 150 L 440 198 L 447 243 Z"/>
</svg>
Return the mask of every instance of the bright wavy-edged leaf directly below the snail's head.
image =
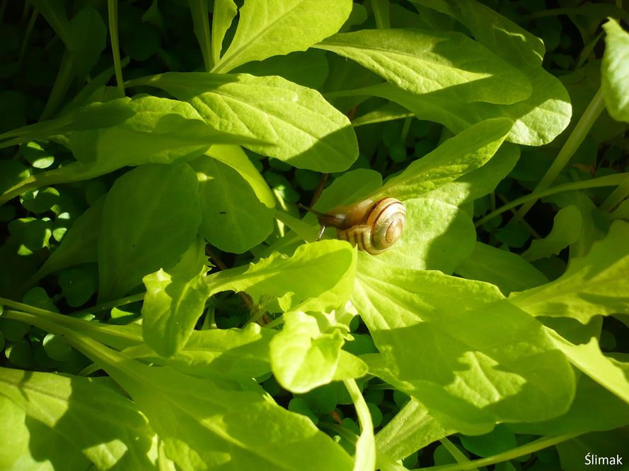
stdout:
<svg viewBox="0 0 629 471">
<path fill-rule="evenodd" d="M 244 291 L 255 303 L 262 297 L 276 297 L 282 311 L 293 309 L 307 298 L 313 298 L 309 310 L 330 311 L 350 297 L 355 269 L 355 249 L 344 241 L 326 240 L 303 244 L 291 257 L 273 254 L 248 267 L 214 273 L 207 282 L 212 294 Z"/>
</svg>

